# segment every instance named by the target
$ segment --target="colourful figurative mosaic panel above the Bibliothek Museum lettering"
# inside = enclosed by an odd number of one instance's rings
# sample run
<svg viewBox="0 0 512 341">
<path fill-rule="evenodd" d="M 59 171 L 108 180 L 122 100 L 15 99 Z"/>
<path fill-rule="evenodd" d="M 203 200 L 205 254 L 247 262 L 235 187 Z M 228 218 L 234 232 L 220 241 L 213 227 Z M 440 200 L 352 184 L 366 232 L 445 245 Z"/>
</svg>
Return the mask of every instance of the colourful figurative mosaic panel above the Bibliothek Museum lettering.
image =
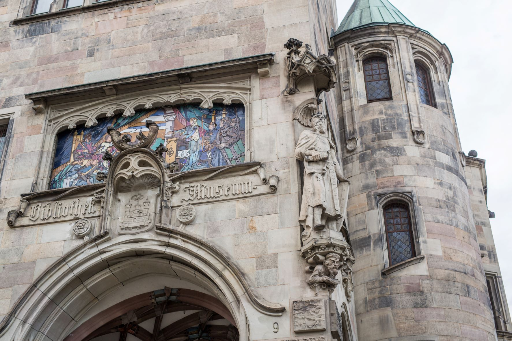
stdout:
<svg viewBox="0 0 512 341">
<path fill-rule="evenodd" d="M 103 153 L 118 151 L 107 127 L 130 134 L 138 142 L 140 132 L 147 135 L 145 121 L 158 124 L 158 137 L 151 147 L 161 143 L 167 163 L 176 161 L 178 171 L 241 164 L 245 160 L 245 108 L 243 104 L 214 104 L 205 109 L 199 104 L 137 110 L 131 117 L 98 119 L 94 127 L 83 125 L 57 135 L 57 146 L 50 189 L 98 183 L 97 172 L 108 170 L 110 162 Z"/>
</svg>

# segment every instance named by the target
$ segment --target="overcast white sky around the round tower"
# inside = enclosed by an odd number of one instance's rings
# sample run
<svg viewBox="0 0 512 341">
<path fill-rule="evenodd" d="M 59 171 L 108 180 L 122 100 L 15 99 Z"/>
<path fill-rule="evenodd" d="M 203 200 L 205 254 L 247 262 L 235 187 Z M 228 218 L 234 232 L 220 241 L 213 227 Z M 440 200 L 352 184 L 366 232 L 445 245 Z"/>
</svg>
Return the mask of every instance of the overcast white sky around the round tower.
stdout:
<svg viewBox="0 0 512 341">
<path fill-rule="evenodd" d="M 353 0 L 336 0 L 338 23 Z M 463 151 L 486 160 L 487 206 L 512 309 L 512 2 L 390 0 L 452 52 L 450 91 Z"/>
</svg>

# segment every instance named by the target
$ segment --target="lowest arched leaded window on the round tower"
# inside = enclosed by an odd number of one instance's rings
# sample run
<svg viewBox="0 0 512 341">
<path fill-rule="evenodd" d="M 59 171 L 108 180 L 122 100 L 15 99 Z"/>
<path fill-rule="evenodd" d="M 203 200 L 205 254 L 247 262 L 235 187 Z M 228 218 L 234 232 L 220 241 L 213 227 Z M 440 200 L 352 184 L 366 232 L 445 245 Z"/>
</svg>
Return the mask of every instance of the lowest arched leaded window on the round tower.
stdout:
<svg viewBox="0 0 512 341">
<path fill-rule="evenodd" d="M 409 206 L 393 202 L 383 208 L 383 213 L 390 265 L 415 257 Z"/>
</svg>

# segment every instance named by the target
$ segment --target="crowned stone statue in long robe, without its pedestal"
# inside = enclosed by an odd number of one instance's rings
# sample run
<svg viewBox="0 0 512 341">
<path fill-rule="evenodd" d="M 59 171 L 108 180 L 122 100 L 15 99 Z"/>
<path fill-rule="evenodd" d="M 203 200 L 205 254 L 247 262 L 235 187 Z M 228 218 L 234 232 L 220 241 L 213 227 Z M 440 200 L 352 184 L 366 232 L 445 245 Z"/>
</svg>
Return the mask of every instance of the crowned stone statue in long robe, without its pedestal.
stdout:
<svg viewBox="0 0 512 341">
<path fill-rule="evenodd" d="M 336 161 L 335 144 L 327 137 L 326 118 L 316 113 L 313 130 L 304 130 L 295 147 L 295 157 L 304 162 L 304 189 L 299 222 L 303 240 L 313 230 L 324 230 L 342 215 L 338 199 L 339 181 L 347 181 Z"/>
</svg>

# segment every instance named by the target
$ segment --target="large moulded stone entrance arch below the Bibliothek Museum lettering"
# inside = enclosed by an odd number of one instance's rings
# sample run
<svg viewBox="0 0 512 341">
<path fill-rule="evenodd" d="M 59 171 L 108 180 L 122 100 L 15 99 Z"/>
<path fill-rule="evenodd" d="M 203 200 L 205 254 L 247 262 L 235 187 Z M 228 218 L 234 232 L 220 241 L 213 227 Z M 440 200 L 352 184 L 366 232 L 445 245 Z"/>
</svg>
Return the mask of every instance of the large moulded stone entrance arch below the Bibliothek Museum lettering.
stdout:
<svg viewBox="0 0 512 341">
<path fill-rule="evenodd" d="M 103 233 L 77 246 L 21 295 L 0 325 L 0 338 L 60 341 L 105 305 L 123 301 L 116 294 L 123 289 L 142 294 L 177 280 L 220 300 L 240 340 L 249 339 L 246 314 L 274 316 L 272 321 L 280 323 L 288 319 L 279 317 L 284 307 L 255 297 L 237 266 L 207 241 L 161 229 L 137 239 Z"/>
</svg>

